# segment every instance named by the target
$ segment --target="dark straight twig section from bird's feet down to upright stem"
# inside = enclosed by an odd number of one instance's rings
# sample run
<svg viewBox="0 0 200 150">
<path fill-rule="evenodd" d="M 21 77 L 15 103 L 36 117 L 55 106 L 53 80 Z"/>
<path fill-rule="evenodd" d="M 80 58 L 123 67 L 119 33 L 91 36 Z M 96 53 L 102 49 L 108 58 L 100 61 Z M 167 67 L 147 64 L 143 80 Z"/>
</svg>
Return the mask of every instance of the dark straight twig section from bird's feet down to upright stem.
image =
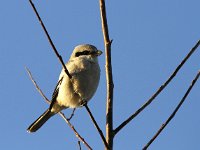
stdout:
<svg viewBox="0 0 200 150">
<path fill-rule="evenodd" d="M 101 131 L 100 127 L 98 126 L 98 124 L 96 122 L 96 120 L 94 119 L 94 116 L 92 115 L 92 113 L 90 111 L 90 108 L 88 107 L 87 103 L 84 106 L 85 106 L 85 108 L 86 108 L 86 110 L 87 110 L 92 122 L 94 123 L 94 126 L 96 127 L 97 131 L 99 132 L 99 135 L 101 136 L 101 139 L 102 139 L 105 147 L 108 148 L 108 143 L 106 142 L 106 139 L 105 139 L 105 137 L 103 135 L 103 132 Z"/>
</svg>

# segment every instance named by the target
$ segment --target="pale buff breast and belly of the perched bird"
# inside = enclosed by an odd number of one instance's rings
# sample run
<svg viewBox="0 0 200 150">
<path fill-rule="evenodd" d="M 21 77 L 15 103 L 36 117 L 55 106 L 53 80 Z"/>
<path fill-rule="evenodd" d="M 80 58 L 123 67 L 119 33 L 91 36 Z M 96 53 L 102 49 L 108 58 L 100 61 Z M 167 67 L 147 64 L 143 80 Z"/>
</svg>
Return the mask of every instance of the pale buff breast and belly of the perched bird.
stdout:
<svg viewBox="0 0 200 150">
<path fill-rule="evenodd" d="M 59 88 L 57 102 L 65 107 L 79 107 L 83 101 L 89 101 L 99 84 L 100 68 L 97 61 L 78 59 L 69 62 L 67 69 L 72 75 L 70 80 L 62 71 L 60 78 L 64 76 Z"/>
</svg>

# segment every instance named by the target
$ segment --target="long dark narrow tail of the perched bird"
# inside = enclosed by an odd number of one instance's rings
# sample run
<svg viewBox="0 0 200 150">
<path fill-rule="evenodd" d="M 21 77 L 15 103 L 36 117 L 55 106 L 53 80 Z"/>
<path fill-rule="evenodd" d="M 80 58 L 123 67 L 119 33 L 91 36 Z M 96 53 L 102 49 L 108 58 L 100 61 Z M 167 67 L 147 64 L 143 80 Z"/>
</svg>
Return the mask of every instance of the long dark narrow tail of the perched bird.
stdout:
<svg viewBox="0 0 200 150">
<path fill-rule="evenodd" d="M 49 118 L 55 113 L 47 109 L 36 121 L 34 121 L 27 129 L 29 133 L 36 132 Z"/>
</svg>

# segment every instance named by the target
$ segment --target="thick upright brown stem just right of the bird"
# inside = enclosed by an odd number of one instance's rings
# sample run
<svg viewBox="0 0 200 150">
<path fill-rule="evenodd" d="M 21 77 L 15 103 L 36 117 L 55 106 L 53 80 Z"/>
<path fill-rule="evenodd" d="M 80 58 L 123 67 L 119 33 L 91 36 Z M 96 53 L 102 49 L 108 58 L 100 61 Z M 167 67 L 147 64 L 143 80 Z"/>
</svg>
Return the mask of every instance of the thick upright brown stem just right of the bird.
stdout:
<svg viewBox="0 0 200 150">
<path fill-rule="evenodd" d="M 109 145 L 109 149 L 113 149 L 113 77 L 112 77 L 112 64 L 111 64 L 111 44 L 109 39 L 108 23 L 106 17 L 106 6 L 104 0 L 99 0 L 102 32 L 105 45 L 105 57 L 106 57 L 106 81 L 107 81 L 107 104 L 106 104 L 106 141 Z"/>
</svg>

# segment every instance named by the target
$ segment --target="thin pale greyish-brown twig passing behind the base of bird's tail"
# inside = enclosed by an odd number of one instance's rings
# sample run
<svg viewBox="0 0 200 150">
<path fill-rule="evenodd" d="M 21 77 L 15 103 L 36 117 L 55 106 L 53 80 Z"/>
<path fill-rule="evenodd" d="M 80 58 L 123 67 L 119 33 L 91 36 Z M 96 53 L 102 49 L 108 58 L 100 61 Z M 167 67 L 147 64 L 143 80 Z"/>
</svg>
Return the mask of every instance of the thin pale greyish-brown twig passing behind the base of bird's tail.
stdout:
<svg viewBox="0 0 200 150">
<path fill-rule="evenodd" d="M 37 91 L 41 94 L 41 96 L 45 99 L 45 101 L 50 104 L 50 101 L 48 100 L 48 98 L 44 95 L 44 93 L 42 92 L 42 90 L 39 88 L 39 86 L 37 85 L 36 81 L 34 80 L 30 70 L 26 67 L 26 71 L 28 72 L 28 75 L 31 79 L 31 81 L 33 82 L 33 84 L 35 85 Z M 73 111 L 74 112 L 74 111 Z M 65 120 L 65 122 L 69 125 L 69 127 L 74 131 L 74 134 L 76 135 L 76 137 L 82 141 L 82 143 L 89 149 L 92 150 L 92 148 L 90 147 L 90 145 L 84 140 L 84 138 L 77 132 L 77 130 L 74 128 L 74 126 L 70 123 L 70 121 L 65 117 L 65 115 L 62 112 L 59 112 L 59 115 Z"/>
</svg>

